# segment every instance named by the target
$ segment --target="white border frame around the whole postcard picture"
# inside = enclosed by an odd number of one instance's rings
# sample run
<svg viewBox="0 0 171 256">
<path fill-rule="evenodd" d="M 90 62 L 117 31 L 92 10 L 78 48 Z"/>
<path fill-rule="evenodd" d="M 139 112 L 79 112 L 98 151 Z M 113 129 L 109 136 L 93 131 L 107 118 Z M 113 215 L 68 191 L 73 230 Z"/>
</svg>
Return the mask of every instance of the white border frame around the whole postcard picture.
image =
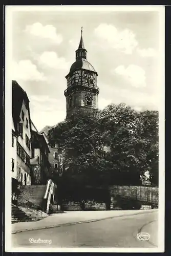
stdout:
<svg viewBox="0 0 171 256">
<path fill-rule="evenodd" d="M 14 11 L 158 11 L 160 16 L 159 52 L 161 72 L 159 99 L 159 231 L 158 248 L 12 248 L 11 247 L 11 61 L 12 61 L 12 12 Z M 8 252 L 163 252 L 164 251 L 164 140 L 165 140 L 165 9 L 164 6 L 6 6 L 5 40 L 5 251 Z M 8 153 L 8 154 L 7 154 Z"/>
</svg>

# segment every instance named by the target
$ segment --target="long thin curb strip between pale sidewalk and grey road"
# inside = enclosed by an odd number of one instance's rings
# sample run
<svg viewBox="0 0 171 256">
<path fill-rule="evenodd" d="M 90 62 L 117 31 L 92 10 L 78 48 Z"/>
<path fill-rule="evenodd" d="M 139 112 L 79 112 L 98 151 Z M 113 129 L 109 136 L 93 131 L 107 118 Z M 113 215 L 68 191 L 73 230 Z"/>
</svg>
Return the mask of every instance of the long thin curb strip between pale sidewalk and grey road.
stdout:
<svg viewBox="0 0 171 256">
<path fill-rule="evenodd" d="M 12 234 L 24 232 L 24 231 L 31 231 L 31 230 L 41 230 L 41 229 L 46 229 L 46 228 L 53 228 L 53 227 L 63 227 L 63 226 L 71 226 L 75 224 L 82 224 L 82 223 L 90 223 L 90 222 L 97 222 L 97 221 L 102 221 L 102 220 L 109 220 L 109 219 L 114 219 L 114 218 L 119 218 L 119 217 L 126 217 L 126 216 L 132 216 L 132 215 L 140 215 L 140 214 L 149 214 L 150 212 L 153 212 L 153 210 L 149 210 L 146 212 L 138 212 L 137 214 L 128 214 L 128 215 L 119 215 L 119 216 L 112 216 L 112 217 L 106 217 L 106 218 L 101 218 L 101 219 L 96 219 L 96 220 L 87 220 L 87 221 L 77 221 L 77 222 L 69 222 L 69 223 L 63 223 L 63 224 L 58 224 L 58 225 L 52 225 L 52 226 L 47 226 L 47 227 L 36 227 L 36 228 L 28 228 L 28 229 L 21 229 L 17 231 L 12 231 Z"/>
</svg>

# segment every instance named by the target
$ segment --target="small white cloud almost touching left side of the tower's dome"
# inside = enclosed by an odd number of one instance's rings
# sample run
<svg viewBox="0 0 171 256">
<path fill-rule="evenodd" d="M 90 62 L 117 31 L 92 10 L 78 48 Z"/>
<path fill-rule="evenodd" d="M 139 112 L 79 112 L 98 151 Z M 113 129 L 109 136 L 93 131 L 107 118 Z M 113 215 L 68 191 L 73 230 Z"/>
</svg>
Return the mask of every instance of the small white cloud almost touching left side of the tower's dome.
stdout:
<svg viewBox="0 0 171 256">
<path fill-rule="evenodd" d="M 39 63 L 53 69 L 69 69 L 69 62 L 63 57 L 58 57 L 55 52 L 43 52 L 38 57 Z"/>
</svg>

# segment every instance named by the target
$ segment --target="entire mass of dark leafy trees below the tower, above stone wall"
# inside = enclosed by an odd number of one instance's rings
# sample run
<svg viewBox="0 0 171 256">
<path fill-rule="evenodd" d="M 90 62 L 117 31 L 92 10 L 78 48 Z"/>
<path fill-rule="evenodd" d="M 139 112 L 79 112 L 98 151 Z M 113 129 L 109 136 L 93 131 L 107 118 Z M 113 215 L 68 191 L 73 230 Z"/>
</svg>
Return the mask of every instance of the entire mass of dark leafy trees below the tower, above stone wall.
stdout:
<svg viewBox="0 0 171 256">
<path fill-rule="evenodd" d="M 140 184 L 146 171 L 158 185 L 158 112 L 121 103 L 102 111 L 78 110 L 48 133 L 57 144 L 62 179 L 79 184 Z"/>
</svg>

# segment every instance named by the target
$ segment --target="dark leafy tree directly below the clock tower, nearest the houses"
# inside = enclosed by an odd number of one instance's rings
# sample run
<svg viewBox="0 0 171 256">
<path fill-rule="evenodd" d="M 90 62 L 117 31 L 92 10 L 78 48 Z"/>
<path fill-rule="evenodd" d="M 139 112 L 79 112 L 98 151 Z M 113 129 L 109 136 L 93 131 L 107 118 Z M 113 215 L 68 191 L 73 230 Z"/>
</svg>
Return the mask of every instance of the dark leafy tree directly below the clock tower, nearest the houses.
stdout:
<svg viewBox="0 0 171 256">
<path fill-rule="evenodd" d="M 94 183 L 99 177 L 102 151 L 98 111 L 77 111 L 48 133 L 50 143 L 63 152 L 67 175 Z M 82 179 L 82 177 L 84 179 Z"/>
</svg>

